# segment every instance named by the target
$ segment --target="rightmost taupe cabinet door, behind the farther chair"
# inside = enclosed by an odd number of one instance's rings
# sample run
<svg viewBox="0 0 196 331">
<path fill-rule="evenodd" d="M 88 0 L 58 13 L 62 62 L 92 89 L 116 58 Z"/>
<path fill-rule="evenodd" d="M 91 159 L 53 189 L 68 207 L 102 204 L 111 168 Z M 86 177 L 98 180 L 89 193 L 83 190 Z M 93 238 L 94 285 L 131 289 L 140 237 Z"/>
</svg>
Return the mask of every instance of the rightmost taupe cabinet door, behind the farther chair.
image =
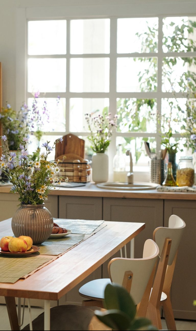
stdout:
<svg viewBox="0 0 196 331">
<path fill-rule="evenodd" d="M 196 202 L 166 200 L 164 226 L 168 226 L 172 214 L 181 217 L 186 223 L 172 281 L 171 298 L 174 317 L 196 319 L 196 310 L 193 306 L 193 300 L 196 300 Z"/>
</svg>

